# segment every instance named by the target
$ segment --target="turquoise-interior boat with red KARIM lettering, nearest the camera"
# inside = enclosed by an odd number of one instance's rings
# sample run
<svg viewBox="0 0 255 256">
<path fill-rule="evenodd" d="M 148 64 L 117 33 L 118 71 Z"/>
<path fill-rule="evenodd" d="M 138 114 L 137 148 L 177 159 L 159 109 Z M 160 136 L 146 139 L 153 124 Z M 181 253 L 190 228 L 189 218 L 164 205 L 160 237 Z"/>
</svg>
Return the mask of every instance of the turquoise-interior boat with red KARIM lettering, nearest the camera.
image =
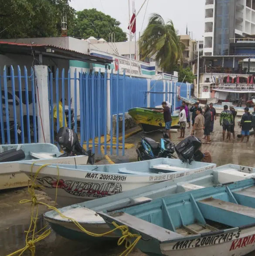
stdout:
<svg viewBox="0 0 255 256">
<path fill-rule="evenodd" d="M 248 179 L 98 214 L 141 235 L 136 247 L 149 256 L 242 256 L 255 250 L 254 192 Z"/>
</svg>

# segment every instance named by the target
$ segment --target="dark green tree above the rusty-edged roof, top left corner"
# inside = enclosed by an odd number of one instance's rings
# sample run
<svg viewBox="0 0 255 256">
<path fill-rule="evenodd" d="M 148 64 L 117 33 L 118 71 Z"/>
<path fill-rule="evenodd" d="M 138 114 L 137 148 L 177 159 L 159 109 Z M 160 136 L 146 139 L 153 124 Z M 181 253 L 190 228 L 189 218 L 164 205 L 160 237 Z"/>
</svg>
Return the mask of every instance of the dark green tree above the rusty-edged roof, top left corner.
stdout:
<svg viewBox="0 0 255 256">
<path fill-rule="evenodd" d="M 0 38 L 33 38 L 61 35 L 61 20 L 70 29 L 75 10 L 70 0 L 0 0 Z"/>
</svg>

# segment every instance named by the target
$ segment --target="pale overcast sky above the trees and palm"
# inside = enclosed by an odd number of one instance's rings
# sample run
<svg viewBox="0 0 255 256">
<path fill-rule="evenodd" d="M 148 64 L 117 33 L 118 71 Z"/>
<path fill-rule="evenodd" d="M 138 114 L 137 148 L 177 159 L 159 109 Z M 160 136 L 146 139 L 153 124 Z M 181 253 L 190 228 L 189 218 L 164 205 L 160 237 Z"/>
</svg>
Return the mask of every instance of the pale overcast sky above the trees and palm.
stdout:
<svg viewBox="0 0 255 256">
<path fill-rule="evenodd" d="M 130 0 L 131 12 L 132 2 Z M 139 10 L 144 0 L 135 0 L 136 12 Z M 137 16 L 136 31 L 141 31 L 148 23 L 151 13 L 160 14 L 165 21 L 172 20 L 175 28 L 180 35 L 186 34 L 186 26 L 188 31 L 193 32 L 193 39 L 202 40 L 204 31 L 204 4 L 205 0 L 149 0 L 148 8 L 146 4 Z M 128 31 L 129 9 L 128 0 L 71 0 L 71 6 L 75 10 L 84 10 L 96 8 L 114 17 L 120 21 L 120 27 L 125 32 Z M 145 19 L 143 23 L 143 18 Z"/>
</svg>

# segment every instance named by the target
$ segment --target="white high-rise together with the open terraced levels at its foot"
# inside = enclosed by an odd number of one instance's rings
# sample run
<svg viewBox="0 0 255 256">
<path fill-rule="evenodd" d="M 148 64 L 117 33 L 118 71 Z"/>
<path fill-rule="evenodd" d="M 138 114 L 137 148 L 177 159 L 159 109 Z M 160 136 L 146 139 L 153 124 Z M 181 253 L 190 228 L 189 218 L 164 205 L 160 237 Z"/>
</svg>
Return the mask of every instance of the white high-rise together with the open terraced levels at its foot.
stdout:
<svg viewBox="0 0 255 256">
<path fill-rule="evenodd" d="M 196 62 L 193 66 L 197 70 Z M 228 90 L 231 83 L 255 84 L 253 75 L 255 0 L 205 0 L 204 48 L 199 58 L 198 82 L 224 84 L 224 90 Z M 233 93 L 230 96 L 239 97 Z"/>
</svg>

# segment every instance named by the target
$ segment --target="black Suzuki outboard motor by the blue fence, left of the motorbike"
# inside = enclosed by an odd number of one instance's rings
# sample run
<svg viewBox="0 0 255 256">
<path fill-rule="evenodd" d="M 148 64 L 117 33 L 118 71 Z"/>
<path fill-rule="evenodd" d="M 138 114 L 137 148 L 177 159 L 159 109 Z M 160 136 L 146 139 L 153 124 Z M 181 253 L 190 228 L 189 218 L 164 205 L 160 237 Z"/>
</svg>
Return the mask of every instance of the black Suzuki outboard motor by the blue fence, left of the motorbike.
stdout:
<svg viewBox="0 0 255 256">
<path fill-rule="evenodd" d="M 58 130 L 57 142 L 65 154 L 59 157 L 66 156 L 88 156 L 88 163 L 95 163 L 95 154 L 91 150 L 84 150 L 79 142 L 78 135 L 68 127 L 61 127 Z"/>
</svg>

